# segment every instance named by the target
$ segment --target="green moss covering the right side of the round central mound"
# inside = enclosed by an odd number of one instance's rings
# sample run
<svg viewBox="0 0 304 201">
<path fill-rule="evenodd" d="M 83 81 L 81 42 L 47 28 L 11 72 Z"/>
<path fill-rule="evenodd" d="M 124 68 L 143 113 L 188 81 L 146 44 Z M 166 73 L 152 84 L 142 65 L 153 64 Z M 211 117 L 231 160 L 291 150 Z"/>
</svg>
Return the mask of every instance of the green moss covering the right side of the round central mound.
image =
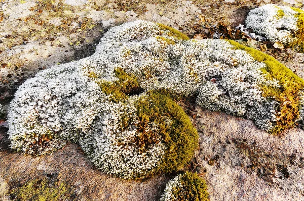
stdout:
<svg viewBox="0 0 304 201">
<path fill-rule="evenodd" d="M 140 98 L 136 104 L 140 119 L 137 126 L 143 131 L 148 123 L 159 125 L 162 142 L 166 145 L 164 159 L 156 172 L 173 172 L 187 165 L 198 148 L 197 130 L 183 109 L 164 91 L 149 91 L 148 98 Z M 155 143 L 157 137 L 153 132 L 142 132 L 136 140 L 142 148 Z"/>
</svg>

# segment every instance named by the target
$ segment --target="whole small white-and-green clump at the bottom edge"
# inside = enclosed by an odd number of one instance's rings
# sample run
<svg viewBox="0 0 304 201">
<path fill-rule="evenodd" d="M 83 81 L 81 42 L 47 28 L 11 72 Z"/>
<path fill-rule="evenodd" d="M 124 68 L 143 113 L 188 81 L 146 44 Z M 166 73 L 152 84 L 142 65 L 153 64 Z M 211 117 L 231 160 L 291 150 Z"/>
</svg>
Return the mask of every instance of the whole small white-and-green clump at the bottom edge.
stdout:
<svg viewBox="0 0 304 201">
<path fill-rule="evenodd" d="M 204 179 L 196 173 L 185 172 L 169 181 L 161 201 L 193 200 L 208 201 L 209 193 Z"/>
</svg>

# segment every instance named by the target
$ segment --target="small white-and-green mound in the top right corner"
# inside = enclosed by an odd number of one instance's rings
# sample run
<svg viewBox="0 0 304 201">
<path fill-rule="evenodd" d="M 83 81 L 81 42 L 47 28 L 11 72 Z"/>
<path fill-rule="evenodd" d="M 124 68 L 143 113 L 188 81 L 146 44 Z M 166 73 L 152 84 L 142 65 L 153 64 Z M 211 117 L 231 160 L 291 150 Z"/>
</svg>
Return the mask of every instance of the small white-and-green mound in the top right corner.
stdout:
<svg viewBox="0 0 304 201">
<path fill-rule="evenodd" d="M 301 9 L 264 5 L 249 12 L 246 26 L 270 41 L 280 41 L 297 52 L 304 52 L 304 11 Z"/>
</svg>

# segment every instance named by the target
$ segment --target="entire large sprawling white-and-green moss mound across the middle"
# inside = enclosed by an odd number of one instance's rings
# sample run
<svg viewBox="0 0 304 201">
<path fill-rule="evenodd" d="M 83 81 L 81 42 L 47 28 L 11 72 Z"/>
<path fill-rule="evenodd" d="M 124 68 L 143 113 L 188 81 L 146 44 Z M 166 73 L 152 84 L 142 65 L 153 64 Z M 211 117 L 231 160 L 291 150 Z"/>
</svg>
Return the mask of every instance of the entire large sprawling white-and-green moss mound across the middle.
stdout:
<svg viewBox="0 0 304 201">
<path fill-rule="evenodd" d="M 12 148 L 35 155 L 77 142 L 102 171 L 145 178 L 182 169 L 197 148 L 196 129 L 170 95 L 279 133 L 301 119 L 303 86 L 272 57 L 236 42 L 129 22 L 109 29 L 91 57 L 21 85 L 9 136 Z"/>
</svg>

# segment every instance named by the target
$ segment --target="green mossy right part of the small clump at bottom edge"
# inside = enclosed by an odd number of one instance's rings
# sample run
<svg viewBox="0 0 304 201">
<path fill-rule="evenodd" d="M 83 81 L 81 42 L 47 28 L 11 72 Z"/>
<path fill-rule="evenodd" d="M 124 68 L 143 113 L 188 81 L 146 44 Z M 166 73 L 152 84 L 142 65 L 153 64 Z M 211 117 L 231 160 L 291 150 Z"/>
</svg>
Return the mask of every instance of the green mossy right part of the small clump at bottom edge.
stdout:
<svg viewBox="0 0 304 201">
<path fill-rule="evenodd" d="M 173 192 L 177 201 L 194 200 L 194 201 L 208 201 L 209 193 L 207 185 L 203 178 L 197 173 L 185 172 L 181 176 L 182 191 L 176 190 Z"/>
</svg>

